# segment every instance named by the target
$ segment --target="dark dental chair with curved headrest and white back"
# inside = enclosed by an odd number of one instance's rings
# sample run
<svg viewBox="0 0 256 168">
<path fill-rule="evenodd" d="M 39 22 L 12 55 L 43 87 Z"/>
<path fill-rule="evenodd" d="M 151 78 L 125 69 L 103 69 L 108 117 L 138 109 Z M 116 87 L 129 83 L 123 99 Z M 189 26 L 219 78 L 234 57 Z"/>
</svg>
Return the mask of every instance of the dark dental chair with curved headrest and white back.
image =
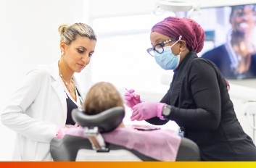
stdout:
<svg viewBox="0 0 256 168">
<path fill-rule="evenodd" d="M 54 161 L 158 161 L 139 151 L 107 143 L 102 133 L 109 133 L 120 125 L 125 112 L 123 107 L 95 114 L 84 114 L 80 109 L 73 109 L 72 117 L 81 127 L 86 138 L 65 135 L 51 140 L 50 152 Z M 163 147 L 164 148 L 164 147 Z M 156 149 L 161 150 L 161 148 Z M 181 138 L 176 161 L 200 161 L 196 143 Z"/>
</svg>

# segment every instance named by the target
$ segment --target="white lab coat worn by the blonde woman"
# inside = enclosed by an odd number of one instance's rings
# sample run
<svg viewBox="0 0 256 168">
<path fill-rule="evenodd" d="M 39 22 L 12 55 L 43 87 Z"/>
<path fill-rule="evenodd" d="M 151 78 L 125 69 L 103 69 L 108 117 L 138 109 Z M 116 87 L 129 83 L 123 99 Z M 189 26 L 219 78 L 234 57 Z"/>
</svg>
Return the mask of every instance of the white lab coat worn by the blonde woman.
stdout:
<svg viewBox="0 0 256 168">
<path fill-rule="evenodd" d="M 82 94 L 78 81 L 73 80 Z M 1 114 L 1 122 L 17 132 L 13 160 L 51 161 L 51 139 L 57 126 L 65 126 L 67 117 L 67 96 L 58 64 L 37 65 L 18 84 Z"/>
</svg>

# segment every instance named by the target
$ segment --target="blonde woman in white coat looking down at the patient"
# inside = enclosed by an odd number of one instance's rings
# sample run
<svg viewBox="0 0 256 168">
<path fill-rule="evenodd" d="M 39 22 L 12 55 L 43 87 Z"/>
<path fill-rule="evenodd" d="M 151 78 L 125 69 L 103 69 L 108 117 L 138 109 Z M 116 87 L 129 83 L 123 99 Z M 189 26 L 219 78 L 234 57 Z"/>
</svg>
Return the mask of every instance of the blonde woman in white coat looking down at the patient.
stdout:
<svg viewBox="0 0 256 168">
<path fill-rule="evenodd" d="M 83 23 L 61 25 L 59 33 L 59 61 L 33 67 L 1 114 L 1 122 L 17 133 L 15 161 L 51 161 L 51 139 L 63 127 L 75 125 L 71 112 L 83 104 L 74 73 L 89 64 L 96 35 Z"/>
</svg>

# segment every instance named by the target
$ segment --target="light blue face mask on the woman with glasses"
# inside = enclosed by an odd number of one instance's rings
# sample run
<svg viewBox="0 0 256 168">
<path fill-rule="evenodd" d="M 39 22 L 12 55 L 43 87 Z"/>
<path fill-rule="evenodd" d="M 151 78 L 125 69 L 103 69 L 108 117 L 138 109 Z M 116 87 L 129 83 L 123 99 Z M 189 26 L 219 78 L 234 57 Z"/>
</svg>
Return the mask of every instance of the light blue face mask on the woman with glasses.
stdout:
<svg viewBox="0 0 256 168">
<path fill-rule="evenodd" d="M 176 41 L 177 43 L 178 41 Z M 172 46 L 174 46 L 176 43 L 173 43 Z M 154 59 L 157 62 L 157 64 L 162 67 L 164 70 L 174 70 L 176 67 L 178 67 L 178 64 L 180 62 L 180 54 L 177 56 L 173 54 L 171 48 L 172 46 L 165 46 L 164 51 L 159 54 L 157 51 L 154 51 Z"/>
</svg>

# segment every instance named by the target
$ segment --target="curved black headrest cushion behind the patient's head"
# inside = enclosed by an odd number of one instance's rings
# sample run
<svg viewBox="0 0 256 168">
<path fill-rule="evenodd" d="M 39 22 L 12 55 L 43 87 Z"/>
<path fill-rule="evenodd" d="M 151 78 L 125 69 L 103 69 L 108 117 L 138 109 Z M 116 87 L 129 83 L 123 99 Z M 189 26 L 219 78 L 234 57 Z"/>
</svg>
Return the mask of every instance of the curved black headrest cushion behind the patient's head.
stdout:
<svg viewBox="0 0 256 168">
<path fill-rule="evenodd" d="M 82 109 L 73 109 L 72 118 L 82 127 L 99 127 L 100 133 L 115 130 L 123 121 L 125 111 L 122 106 L 115 106 L 95 115 L 84 114 Z"/>
</svg>

